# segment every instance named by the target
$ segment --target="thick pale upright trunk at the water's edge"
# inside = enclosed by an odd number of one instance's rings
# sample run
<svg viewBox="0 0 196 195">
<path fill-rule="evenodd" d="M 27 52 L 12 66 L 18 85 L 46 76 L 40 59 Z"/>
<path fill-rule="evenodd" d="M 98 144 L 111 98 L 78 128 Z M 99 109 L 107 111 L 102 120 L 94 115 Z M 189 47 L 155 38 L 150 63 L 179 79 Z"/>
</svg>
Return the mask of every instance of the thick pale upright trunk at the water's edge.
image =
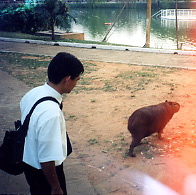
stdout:
<svg viewBox="0 0 196 195">
<path fill-rule="evenodd" d="M 151 6 L 152 6 L 152 0 L 147 0 L 146 43 L 145 43 L 144 47 L 150 47 Z"/>
</svg>

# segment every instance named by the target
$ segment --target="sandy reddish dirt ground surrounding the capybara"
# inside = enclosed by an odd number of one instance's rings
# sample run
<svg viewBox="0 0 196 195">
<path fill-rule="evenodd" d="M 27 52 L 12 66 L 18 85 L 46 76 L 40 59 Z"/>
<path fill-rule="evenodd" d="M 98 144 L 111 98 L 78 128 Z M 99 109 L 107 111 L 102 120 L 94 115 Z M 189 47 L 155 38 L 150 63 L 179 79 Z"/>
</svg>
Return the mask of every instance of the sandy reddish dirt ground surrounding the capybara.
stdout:
<svg viewBox="0 0 196 195">
<path fill-rule="evenodd" d="M 64 97 L 64 113 L 74 153 L 96 193 L 196 194 L 196 72 L 100 61 L 84 64 L 88 67 L 78 86 Z M 142 140 L 137 157 L 129 157 L 128 117 L 165 100 L 181 108 L 164 129 L 164 139 L 152 135 Z"/>
</svg>

